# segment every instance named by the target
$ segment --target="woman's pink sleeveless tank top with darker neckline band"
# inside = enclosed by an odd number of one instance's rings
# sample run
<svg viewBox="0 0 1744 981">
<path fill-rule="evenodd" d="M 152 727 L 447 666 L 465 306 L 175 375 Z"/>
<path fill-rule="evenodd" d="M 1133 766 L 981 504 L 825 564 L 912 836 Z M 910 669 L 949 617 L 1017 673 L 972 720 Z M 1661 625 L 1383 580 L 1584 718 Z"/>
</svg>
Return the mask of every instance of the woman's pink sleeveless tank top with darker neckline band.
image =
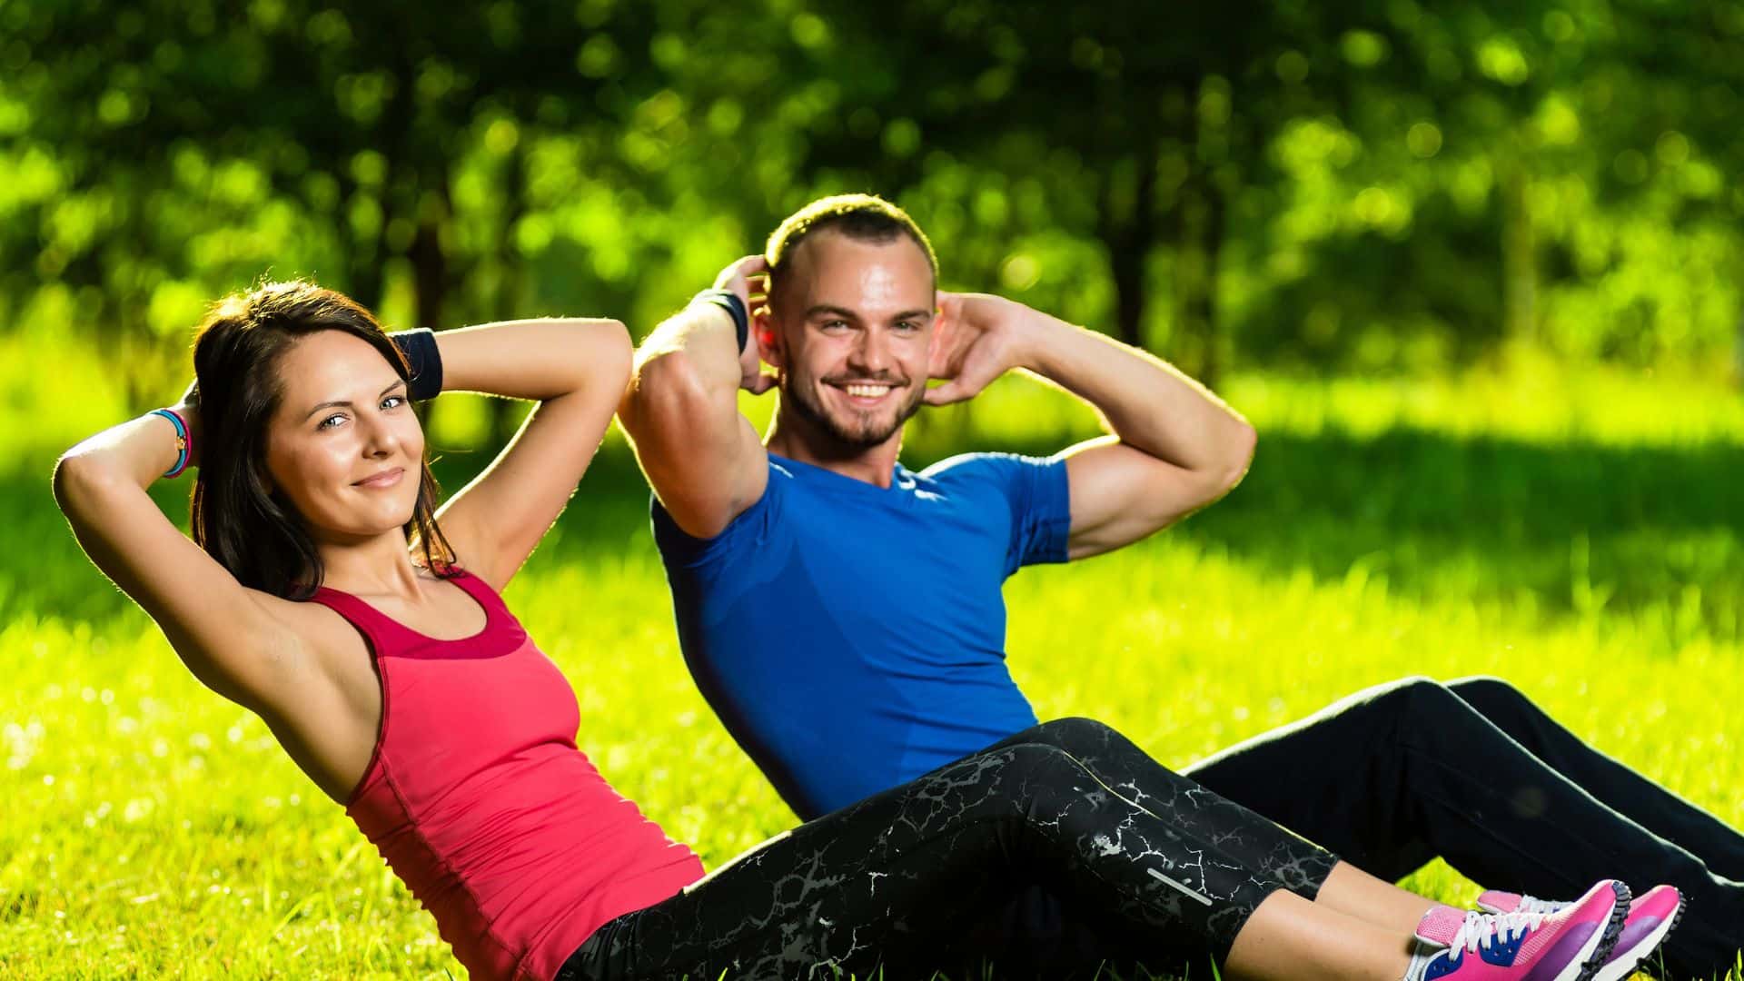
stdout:
<svg viewBox="0 0 1744 981">
<path fill-rule="evenodd" d="M 345 813 L 476 979 L 546 981 L 607 920 L 652 906 L 703 864 L 576 749 L 576 693 L 476 576 L 462 641 L 417 634 L 351 593 L 314 602 L 368 641 L 382 731 Z"/>
</svg>

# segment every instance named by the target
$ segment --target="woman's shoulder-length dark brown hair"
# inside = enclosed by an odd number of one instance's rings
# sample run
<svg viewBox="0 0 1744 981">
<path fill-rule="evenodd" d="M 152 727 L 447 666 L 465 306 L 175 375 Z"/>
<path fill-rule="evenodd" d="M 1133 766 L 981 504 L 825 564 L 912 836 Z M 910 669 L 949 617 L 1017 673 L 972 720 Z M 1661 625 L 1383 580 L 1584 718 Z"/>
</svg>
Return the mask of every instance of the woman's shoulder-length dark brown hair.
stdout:
<svg viewBox="0 0 1744 981">
<path fill-rule="evenodd" d="M 309 599 L 321 585 L 321 553 L 300 515 L 267 489 L 267 422 L 284 386 L 279 360 L 298 340 L 342 330 L 375 347 L 401 379 L 405 356 L 361 304 L 314 283 L 265 283 L 218 300 L 194 340 L 199 386 L 201 470 L 190 522 L 199 543 L 244 587 L 286 599 Z M 436 525 L 436 478 L 420 466 L 419 501 L 406 538 L 424 566 L 450 574 L 453 548 Z"/>
</svg>

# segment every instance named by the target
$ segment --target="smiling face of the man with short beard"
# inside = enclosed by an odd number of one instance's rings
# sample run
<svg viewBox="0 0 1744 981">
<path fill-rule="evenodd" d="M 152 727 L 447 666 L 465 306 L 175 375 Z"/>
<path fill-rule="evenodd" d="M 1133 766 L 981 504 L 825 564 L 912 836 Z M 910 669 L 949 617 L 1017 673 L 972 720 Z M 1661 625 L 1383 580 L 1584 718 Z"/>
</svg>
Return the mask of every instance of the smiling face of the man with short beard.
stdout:
<svg viewBox="0 0 1744 981">
<path fill-rule="evenodd" d="M 933 267 L 914 241 L 814 232 L 771 304 L 781 405 L 844 449 L 886 443 L 921 407 L 933 340 Z"/>
</svg>

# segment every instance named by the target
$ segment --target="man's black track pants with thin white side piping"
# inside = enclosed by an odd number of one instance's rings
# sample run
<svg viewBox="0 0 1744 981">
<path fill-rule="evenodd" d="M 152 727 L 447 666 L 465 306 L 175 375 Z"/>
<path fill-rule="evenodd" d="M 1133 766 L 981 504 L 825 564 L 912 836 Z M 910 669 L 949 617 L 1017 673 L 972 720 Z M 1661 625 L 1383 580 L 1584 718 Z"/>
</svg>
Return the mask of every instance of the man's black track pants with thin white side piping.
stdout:
<svg viewBox="0 0 1744 981">
<path fill-rule="evenodd" d="M 1660 948 L 1678 978 L 1725 976 L 1744 948 L 1744 834 L 1498 679 L 1371 688 L 1186 773 L 1381 878 L 1441 855 L 1543 899 L 1669 882 L 1690 899 Z"/>
</svg>

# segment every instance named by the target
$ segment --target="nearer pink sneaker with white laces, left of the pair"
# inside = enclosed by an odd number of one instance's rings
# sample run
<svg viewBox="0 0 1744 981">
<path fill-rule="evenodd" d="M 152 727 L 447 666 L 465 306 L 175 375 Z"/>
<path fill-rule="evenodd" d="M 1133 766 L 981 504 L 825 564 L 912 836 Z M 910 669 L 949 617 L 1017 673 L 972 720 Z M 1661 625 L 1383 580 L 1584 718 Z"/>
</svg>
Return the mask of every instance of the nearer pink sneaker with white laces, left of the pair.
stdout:
<svg viewBox="0 0 1744 981">
<path fill-rule="evenodd" d="M 1629 887 L 1594 885 L 1557 913 L 1460 913 L 1430 909 L 1418 939 L 1448 950 L 1423 981 L 1592 981 L 1624 929 Z M 1472 957 L 1477 955 L 1477 957 Z"/>
</svg>

